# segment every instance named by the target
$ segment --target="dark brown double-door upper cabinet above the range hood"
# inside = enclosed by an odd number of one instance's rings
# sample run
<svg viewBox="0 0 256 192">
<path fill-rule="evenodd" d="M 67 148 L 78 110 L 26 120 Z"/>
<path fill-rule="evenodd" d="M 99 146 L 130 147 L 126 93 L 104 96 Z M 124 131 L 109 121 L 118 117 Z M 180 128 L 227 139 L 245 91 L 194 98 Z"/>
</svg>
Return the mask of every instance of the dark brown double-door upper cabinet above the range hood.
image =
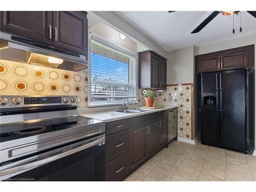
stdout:
<svg viewBox="0 0 256 192">
<path fill-rule="evenodd" d="M 88 55 L 87 12 L 1 11 L 1 31 Z"/>
</svg>

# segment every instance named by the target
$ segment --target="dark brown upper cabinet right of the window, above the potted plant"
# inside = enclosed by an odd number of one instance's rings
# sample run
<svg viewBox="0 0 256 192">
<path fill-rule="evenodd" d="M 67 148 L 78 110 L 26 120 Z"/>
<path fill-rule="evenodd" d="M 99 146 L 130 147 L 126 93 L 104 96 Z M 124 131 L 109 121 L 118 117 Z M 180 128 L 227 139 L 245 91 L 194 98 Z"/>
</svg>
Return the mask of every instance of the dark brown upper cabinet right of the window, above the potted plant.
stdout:
<svg viewBox="0 0 256 192">
<path fill-rule="evenodd" d="M 152 51 L 139 53 L 139 87 L 166 89 L 166 59 Z"/>
</svg>

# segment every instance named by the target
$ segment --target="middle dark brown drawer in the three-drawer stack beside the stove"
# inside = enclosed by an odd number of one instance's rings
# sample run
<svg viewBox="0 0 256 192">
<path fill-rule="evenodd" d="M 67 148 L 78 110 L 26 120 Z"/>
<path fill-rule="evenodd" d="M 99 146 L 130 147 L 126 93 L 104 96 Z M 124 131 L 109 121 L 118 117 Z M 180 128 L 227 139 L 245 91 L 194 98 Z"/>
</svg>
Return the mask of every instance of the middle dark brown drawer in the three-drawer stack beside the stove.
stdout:
<svg viewBox="0 0 256 192">
<path fill-rule="evenodd" d="M 106 136 L 105 163 L 130 150 L 130 129 Z"/>
</svg>

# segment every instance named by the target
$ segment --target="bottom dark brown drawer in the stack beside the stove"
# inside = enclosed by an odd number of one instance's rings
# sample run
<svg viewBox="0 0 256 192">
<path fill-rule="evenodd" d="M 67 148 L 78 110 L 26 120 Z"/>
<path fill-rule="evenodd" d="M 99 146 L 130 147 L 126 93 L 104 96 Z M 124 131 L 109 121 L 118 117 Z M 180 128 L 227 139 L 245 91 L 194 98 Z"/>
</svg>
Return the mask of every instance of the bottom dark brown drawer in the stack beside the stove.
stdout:
<svg viewBox="0 0 256 192">
<path fill-rule="evenodd" d="M 122 181 L 131 171 L 130 151 L 105 164 L 105 181 Z"/>
</svg>

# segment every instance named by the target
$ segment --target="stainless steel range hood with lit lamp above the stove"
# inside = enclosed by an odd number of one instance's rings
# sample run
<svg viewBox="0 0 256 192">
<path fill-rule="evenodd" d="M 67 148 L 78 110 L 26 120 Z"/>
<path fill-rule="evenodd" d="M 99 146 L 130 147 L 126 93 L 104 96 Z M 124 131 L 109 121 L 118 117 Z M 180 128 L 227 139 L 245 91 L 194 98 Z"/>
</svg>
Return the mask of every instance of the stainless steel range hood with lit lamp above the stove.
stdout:
<svg viewBox="0 0 256 192">
<path fill-rule="evenodd" d="M 0 32 L 0 58 L 70 71 L 88 67 L 85 55 Z"/>
</svg>

